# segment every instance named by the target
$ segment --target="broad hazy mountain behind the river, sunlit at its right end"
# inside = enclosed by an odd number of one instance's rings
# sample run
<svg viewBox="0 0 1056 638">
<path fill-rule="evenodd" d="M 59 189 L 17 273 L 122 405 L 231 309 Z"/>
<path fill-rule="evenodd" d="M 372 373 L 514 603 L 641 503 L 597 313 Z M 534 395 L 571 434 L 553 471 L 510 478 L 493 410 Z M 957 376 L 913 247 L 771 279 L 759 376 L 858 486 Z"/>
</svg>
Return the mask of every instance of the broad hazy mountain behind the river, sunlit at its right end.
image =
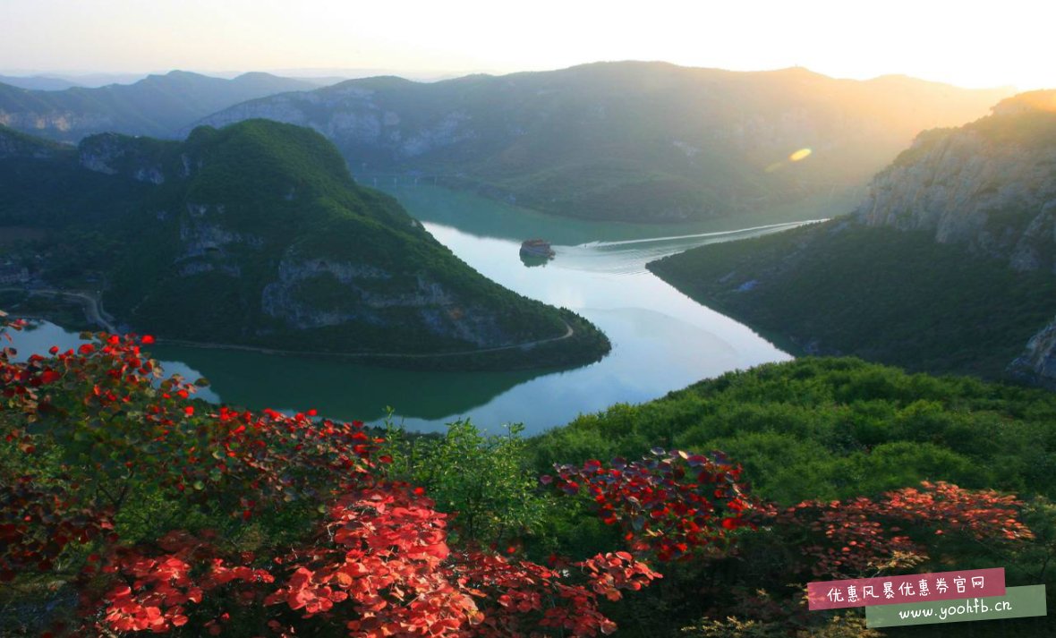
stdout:
<svg viewBox="0 0 1056 638">
<path fill-rule="evenodd" d="M 681 221 L 846 194 L 920 130 L 968 121 L 1008 94 L 804 69 L 605 62 L 434 83 L 350 80 L 203 121 L 309 126 L 354 173 L 419 172 L 558 214 Z"/>
</svg>

